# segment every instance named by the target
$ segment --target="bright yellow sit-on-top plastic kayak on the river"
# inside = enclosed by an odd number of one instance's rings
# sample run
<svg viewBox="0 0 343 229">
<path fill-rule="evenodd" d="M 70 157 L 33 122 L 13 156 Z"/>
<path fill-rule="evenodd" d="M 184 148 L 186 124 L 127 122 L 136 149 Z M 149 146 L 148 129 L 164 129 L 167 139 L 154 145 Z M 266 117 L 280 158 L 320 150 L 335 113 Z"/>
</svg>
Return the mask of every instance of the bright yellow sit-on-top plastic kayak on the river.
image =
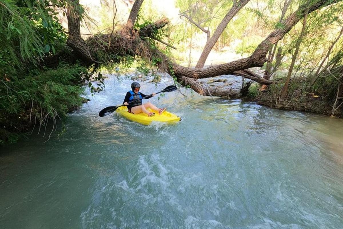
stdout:
<svg viewBox="0 0 343 229">
<path fill-rule="evenodd" d="M 150 110 L 150 108 L 148 108 Z M 127 119 L 130 119 L 131 121 L 138 122 L 144 125 L 150 125 L 151 122 L 164 122 L 164 123 L 177 123 L 181 120 L 181 118 L 175 114 L 169 113 L 167 111 L 163 112 L 161 115 L 158 114 L 158 111 L 153 111 L 155 113 L 154 116 L 149 117 L 145 113 L 139 113 L 139 114 L 132 114 L 128 112 L 128 108 L 126 106 L 118 107 L 116 110 L 117 113 L 120 115 L 126 117 Z"/>
</svg>

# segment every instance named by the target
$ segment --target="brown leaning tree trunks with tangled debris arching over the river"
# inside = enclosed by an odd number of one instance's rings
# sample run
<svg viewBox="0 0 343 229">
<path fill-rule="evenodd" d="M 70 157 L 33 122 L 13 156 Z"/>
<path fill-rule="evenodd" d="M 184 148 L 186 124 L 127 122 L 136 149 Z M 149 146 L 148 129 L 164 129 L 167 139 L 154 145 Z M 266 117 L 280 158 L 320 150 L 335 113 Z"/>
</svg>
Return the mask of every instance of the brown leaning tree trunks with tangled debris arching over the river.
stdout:
<svg viewBox="0 0 343 229">
<path fill-rule="evenodd" d="M 232 8 L 224 16 L 222 22 L 218 25 L 213 35 L 210 36 L 208 31 L 208 39 L 203 48 L 202 54 L 195 68 L 184 67 L 166 55 L 164 55 L 157 48 L 152 49 L 149 45 L 149 39 L 156 39 L 154 37 L 156 30 L 164 27 L 168 20 L 163 18 L 155 23 L 149 24 L 137 30 L 134 28 L 134 23 L 137 19 L 137 14 L 143 3 L 143 0 L 136 0 L 131 9 L 128 21 L 118 31 L 111 31 L 110 34 L 103 34 L 94 37 L 90 37 L 84 40 L 80 34 L 80 10 L 79 1 L 70 1 L 67 5 L 67 18 L 68 18 L 68 46 L 73 50 L 72 53 L 57 54 L 56 56 L 45 59 L 46 65 L 56 63 L 61 56 L 69 61 L 75 61 L 75 59 L 82 60 L 84 64 L 99 65 L 106 64 L 106 62 L 116 62 L 118 56 L 142 56 L 147 59 L 154 59 L 157 61 L 157 66 L 163 71 L 167 71 L 170 75 L 175 77 L 182 85 L 189 85 L 194 91 L 201 95 L 213 95 L 213 96 L 238 96 L 240 91 L 235 89 L 226 88 L 205 88 L 197 79 L 216 77 L 221 75 L 237 75 L 256 81 L 261 84 L 273 84 L 267 78 L 260 77 L 249 70 L 252 67 L 262 67 L 265 62 L 268 61 L 268 53 L 277 42 L 279 42 L 285 34 L 287 34 L 298 22 L 304 18 L 304 15 L 310 14 L 316 10 L 319 10 L 328 5 L 335 4 L 341 0 L 309 0 L 299 5 L 298 9 L 289 15 L 284 17 L 284 10 L 282 11 L 282 17 L 280 23 L 282 26 L 275 28 L 265 39 L 258 45 L 253 53 L 247 57 L 238 59 L 225 64 L 215 65 L 204 68 L 204 63 L 208 57 L 214 44 L 224 31 L 227 24 L 233 18 L 238 11 L 243 8 L 249 0 L 234 1 Z M 287 3 L 285 3 L 285 6 Z"/>
</svg>

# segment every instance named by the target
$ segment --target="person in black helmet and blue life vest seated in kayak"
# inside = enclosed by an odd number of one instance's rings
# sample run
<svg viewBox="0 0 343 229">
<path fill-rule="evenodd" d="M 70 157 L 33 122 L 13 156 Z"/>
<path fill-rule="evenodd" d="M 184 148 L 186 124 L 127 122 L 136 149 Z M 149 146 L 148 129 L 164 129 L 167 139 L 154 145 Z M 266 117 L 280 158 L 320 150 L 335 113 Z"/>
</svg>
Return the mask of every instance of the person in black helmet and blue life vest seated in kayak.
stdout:
<svg viewBox="0 0 343 229">
<path fill-rule="evenodd" d="M 150 102 L 142 104 L 142 98 L 147 96 L 147 95 L 139 92 L 140 88 L 141 88 L 141 85 L 139 83 L 133 82 L 133 83 L 131 83 L 131 89 L 132 90 L 128 91 L 126 93 L 123 104 L 128 107 L 129 112 L 132 114 L 139 114 L 139 113 L 144 112 L 149 117 L 152 117 L 155 115 L 155 113 L 149 112 L 147 110 L 147 108 L 150 108 L 151 110 L 158 111 L 158 114 L 161 115 L 167 109 L 167 107 L 160 109 L 160 108 L 157 108 L 155 105 L 153 105 Z M 150 99 L 154 95 L 155 95 L 155 93 L 152 93 L 151 95 L 147 96 L 144 99 Z M 137 101 L 130 103 L 134 100 L 137 100 Z"/>
</svg>

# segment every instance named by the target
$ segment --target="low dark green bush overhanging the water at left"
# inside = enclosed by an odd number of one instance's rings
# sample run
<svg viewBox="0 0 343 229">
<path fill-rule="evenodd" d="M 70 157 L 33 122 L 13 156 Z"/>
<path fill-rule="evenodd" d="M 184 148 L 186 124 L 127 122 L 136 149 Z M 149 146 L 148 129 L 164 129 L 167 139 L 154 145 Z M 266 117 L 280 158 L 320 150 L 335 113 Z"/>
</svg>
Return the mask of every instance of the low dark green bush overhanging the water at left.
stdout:
<svg viewBox="0 0 343 229">
<path fill-rule="evenodd" d="M 10 81 L 0 79 L 1 132 L 13 141 L 17 131 L 26 131 L 34 123 L 64 119 L 82 104 L 80 73 L 87 74 L 87 69 L 62 64 L 57 69 L 32 69 Z"/>
</svg>

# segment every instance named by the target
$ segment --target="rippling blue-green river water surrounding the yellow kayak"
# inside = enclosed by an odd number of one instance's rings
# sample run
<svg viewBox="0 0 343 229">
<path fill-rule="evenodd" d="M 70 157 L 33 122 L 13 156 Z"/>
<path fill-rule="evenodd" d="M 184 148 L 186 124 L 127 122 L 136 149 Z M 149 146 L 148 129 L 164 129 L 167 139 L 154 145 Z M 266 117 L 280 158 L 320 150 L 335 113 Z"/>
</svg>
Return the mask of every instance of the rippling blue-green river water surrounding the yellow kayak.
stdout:
<svg viewBox="0 0 343 229">
<path fill-rule="evenodd" d="M 0 228 L 343 228 L 341 119 L 190 92 L 150 99 L 176 125 L 98 117 L 130 83 L 1 149 Z"/>
</svg>

